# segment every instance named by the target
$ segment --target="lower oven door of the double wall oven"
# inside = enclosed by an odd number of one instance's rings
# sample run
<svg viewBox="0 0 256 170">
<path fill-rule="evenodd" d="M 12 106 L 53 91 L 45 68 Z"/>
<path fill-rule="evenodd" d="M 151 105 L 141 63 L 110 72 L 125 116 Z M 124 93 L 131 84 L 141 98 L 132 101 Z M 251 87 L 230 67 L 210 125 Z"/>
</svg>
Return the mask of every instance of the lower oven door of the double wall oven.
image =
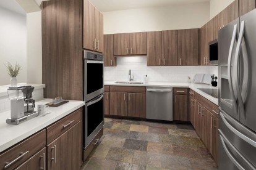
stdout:
<svg viewBox="0 0 256 170">
<path fill-rule="evenodd" d="M 104 125 L 103 94 L 85 103 L 85 147 Z"/>
</svg>

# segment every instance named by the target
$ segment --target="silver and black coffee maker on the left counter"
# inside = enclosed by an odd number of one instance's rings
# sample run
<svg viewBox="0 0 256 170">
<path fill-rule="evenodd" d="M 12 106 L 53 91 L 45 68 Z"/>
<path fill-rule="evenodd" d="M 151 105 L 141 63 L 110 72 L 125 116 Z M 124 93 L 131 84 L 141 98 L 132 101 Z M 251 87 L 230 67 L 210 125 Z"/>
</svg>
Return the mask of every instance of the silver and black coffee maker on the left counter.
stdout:
<svg viewBox="0 0 256 170">
<path fill-rule="evenodd" d="M 34 88 L 32 86 L 17 86 L 7 89 L 11 100 L 11 118 L 6 119 L 7 124 L 19 124 L 38 116 L 38 112 L 34 110 L 35 100 L 32 98 Z"/>
</svg>

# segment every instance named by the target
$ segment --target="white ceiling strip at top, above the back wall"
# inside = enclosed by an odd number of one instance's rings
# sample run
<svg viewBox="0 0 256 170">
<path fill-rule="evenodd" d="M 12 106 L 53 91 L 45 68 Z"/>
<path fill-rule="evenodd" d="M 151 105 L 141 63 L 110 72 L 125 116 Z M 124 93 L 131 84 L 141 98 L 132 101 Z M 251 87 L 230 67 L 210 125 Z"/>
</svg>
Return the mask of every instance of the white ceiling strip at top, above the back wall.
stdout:
<svg viewBox="0 0 256 170">
<path fill-rule="evenodd" d="M 171 6 L 185 3 L 210 2 L 210 0 L 90 0 L 101 12 Z"/>
</svg>

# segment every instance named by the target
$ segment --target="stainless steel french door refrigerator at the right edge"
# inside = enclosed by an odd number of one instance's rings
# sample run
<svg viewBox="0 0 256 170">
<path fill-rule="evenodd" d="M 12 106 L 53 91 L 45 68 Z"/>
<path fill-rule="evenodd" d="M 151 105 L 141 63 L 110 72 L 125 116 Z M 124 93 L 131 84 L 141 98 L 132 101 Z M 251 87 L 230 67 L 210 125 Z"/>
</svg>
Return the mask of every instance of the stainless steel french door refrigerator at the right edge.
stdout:
<svg viewBox="0 0 256 170">
<path fill-rule="evenodd" d="M 218 38 L 219 169 L 256 169 L 256 9 Z"/>
</svg>

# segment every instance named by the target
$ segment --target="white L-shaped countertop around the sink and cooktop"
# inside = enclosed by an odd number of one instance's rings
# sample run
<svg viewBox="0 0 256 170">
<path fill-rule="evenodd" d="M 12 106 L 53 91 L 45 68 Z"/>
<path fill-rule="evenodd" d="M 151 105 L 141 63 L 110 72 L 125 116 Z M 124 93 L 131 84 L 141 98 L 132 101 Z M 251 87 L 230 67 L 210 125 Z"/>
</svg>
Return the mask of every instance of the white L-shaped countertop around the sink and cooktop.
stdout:
<svg viewBox="0 0 256 170">
<path fill-rule="evenodd" d="M 155 87 L 188 87 L 198 94 L 202 95 L 206 99 L 218 105 L 218 98 L 212 97 L 211 95 L 206 94 L 203 91 L 200 91 L 200 88 L 205 89 L 218 89 L 218 87 L 213 87 L 211 84 L 198 84 L 198 83 L 173 83 L 173 82 L 148 82 L 143 84 L 119 84 L 114 83 L 115 81 L 105 81 L 105 86 L 155 86 Z"/>
</svg>

